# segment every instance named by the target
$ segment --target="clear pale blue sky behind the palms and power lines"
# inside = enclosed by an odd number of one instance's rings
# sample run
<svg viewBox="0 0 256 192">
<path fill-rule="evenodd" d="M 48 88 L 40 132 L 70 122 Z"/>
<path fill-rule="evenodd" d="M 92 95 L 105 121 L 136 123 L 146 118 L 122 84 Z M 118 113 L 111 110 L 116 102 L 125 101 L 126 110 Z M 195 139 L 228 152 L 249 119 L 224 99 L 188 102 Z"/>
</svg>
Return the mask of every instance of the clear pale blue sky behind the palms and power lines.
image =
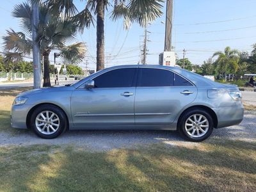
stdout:
<svg viewBox="0 0 256 192">
<path fill-rule="evenodd" d="M 8 28 L 19 31 L 19 20 L 11 16 L 13 6 L 20 0 L 2 1 L 0 4 L 0 36 Z M 84 2 L 75 0 L 77 7 L 83 8 Z M 165 3 L 163 4 L 165 12 Z M 186 58 L 201 65 L 215 51 L 223 51 L 226 46 L 239 51 L 252 51 L 256 43 L 256 0 L 174 0 L 173 38 L 177 56 L 182 58 L 182 49 L 186 49 Z M 111 10 L 111 8 L 109 8 Z M 148 26 L 148 64 L 157 64 L 158 55 L 164 49 L 165 15 Z M 106 67 L 138 63 L 140 46 L 143 41 L 143 28 L 132 24 L 129 31 L 123 28 L 123 21 L 112 22 L 106 13 Z M 88 52 L 85 60 L 89 67 L 95 68 L 96 30 L 90 28 L 77 35 L 77 41 L 86 43 Z M 2 43 L 2 40 L 0 40 Z M 51 53 L 53 60 L 53 52 Z M 85 65 L 81 65 L 84 67 Z"/>
</svg>

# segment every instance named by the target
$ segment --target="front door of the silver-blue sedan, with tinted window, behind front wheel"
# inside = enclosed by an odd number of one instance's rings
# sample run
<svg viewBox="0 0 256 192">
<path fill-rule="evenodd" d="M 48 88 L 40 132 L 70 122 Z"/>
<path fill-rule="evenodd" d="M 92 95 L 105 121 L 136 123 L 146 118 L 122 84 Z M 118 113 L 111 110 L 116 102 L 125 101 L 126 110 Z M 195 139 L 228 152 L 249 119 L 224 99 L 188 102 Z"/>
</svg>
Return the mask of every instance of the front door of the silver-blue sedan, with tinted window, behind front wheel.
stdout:
<svg viewBox="0 0 256 192">
<path fill-rule="evenodd" d="M 113 69 L 94 77 L 94 88 L 77 88 L 71 98 L 74 125 L 134 125 L 137 69 Z"/>
</svg>

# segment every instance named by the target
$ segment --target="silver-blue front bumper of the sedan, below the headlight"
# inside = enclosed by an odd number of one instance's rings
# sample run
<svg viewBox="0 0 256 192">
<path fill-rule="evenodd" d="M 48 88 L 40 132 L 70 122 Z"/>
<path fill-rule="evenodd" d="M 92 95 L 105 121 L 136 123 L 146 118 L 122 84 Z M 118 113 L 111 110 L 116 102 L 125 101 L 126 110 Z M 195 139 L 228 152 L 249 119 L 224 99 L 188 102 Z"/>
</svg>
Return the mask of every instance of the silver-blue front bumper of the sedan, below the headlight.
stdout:
<svg viewBox="0 0 256 192">
<path fill-rule="evenodd" d="M 31 108 L 32 106 L 26 104 L 20 106 L 12 106 L 11 126 L 13 128 L 27 129 L 26 118 Z"/>
</svg>

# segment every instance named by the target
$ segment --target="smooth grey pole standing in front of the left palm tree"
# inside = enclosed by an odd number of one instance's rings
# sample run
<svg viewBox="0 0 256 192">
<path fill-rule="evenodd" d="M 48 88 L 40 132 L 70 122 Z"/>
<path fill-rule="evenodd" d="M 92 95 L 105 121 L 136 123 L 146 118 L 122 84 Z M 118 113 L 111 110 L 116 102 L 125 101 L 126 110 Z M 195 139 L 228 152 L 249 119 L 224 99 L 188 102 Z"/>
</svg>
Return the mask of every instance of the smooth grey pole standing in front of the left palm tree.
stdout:
<svg viewBox="0 0 256 192">
<path fill-rule="evenodd" d="M 39 24 L 38 4 L 32 1 L 32 39 L 33 39 L 33 67 L 34 67 L 34 88 L 41 88 L 41 62 L 40 47 L 37 38 L 37 28 Z"/>
</svg>

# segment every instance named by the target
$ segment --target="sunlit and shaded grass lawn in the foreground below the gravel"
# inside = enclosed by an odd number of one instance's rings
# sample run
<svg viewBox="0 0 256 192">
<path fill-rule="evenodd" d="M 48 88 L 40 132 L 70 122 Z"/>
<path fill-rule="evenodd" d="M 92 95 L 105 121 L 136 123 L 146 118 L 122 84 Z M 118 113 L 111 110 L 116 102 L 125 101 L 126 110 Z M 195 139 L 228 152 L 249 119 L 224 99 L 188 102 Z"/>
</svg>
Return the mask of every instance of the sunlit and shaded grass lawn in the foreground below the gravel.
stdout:
<svg viewBox="0 0 256 192">
<path fill-rule="evenodd" d="M 0 191 L 255 191 L 256 143 L 0 147 Z"/>
</svg>

